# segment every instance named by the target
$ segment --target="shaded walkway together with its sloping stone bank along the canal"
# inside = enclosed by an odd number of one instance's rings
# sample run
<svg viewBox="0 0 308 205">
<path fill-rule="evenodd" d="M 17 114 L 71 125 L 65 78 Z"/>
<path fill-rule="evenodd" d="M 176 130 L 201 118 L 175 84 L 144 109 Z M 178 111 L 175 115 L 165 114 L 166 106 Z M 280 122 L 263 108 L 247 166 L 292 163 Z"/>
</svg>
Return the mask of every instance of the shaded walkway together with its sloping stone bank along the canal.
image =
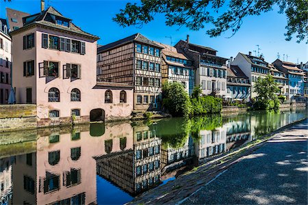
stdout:
<svg viewBox="0 0 308 205">
<path fill-rule="evenodd" d="M 147 191 L 130 204 L 307 204 L 307 138 L 305 120 L 268 142 Z"/>
</svg>

